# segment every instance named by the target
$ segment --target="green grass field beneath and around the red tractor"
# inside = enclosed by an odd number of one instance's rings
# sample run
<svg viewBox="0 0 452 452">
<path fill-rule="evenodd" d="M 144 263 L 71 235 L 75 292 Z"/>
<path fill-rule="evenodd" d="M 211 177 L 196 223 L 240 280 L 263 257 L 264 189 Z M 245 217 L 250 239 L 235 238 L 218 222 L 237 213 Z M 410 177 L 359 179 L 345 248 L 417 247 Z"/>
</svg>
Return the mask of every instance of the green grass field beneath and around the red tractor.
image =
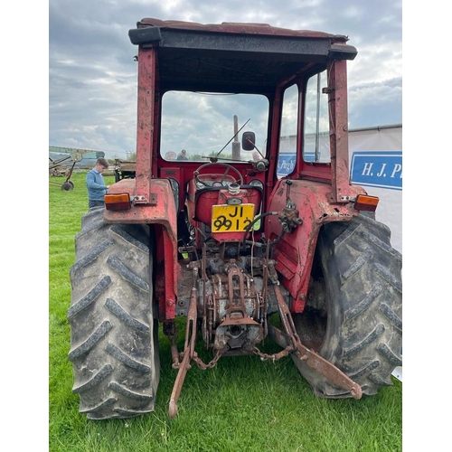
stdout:
<svg viewBox="0 0 452 452">
<path fill-rule="evenodd" d="M 350 451 L 402 450 L 402 384 L 362 400 L 316 398 L 290 358 L 260 362 L 230 357 L 211 370 L 187 373 L 179 414 L 167 415 L 176 371 L 160 333 L 162 372 L 155 412 L 134 419 L 94 421 L 72 394 L 69 270 L 74 236 L 88 210 L 84 173 L 49 179 L 49 450 L 50 451 Z M 113 176 L 106 177 L 112 184 Z M 268 345 L 272 350 L 272 345 Z M 199 347 L 201 348 L 201 347 Z M 203 357 L 208 360 L 210 354 Z M 202 353 L 200 353 L 202 354 Z"/>
</svg>

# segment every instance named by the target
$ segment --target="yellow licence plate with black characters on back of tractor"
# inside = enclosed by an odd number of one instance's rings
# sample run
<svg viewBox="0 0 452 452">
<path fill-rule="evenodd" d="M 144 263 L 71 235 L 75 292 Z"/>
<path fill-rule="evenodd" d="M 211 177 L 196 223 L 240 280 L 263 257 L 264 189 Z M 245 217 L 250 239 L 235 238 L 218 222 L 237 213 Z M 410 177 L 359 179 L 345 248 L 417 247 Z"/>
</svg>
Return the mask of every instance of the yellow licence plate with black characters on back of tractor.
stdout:
<svg viewBox="0 0 452 452">
<path fill-rule="evenodd" d="M 254 204 L 212 205 L 212 232 L 245 231 L 254 219 Z"/>
</svg>

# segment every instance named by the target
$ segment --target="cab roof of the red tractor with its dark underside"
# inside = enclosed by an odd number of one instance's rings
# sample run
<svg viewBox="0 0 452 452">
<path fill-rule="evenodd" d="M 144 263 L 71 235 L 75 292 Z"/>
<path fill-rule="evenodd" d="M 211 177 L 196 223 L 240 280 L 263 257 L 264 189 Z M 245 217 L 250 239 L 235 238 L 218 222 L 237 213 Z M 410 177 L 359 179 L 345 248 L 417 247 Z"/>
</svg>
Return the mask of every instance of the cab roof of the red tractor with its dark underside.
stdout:
<svg viewBox="0 0 452 452">
<path fill-rule="evenodd" d="M 197 24 L 145 18 L 133 44 L 155 46 L 161 89 L 273 92 L 298 71 L 321 71 L 330 59 L 353 60 L 347 36 L 269 24 Z"/>
</svg>

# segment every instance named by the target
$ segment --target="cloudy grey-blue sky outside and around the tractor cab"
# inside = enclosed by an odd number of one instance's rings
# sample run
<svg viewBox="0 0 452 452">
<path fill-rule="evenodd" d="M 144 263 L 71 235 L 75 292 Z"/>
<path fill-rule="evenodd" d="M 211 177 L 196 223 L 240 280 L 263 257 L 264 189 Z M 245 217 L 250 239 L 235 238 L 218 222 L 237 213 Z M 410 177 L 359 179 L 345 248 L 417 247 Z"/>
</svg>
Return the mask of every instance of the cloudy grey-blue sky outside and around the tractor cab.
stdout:
<svg viewBox="0 0 452 452">
<path fill-rule="evenodd" d="M 122 158 L 135 150 L 137 47 L 127 33 L 144 17 L 348 35 L 358 50 L 348 64 L 349 127 L 402 123 L 401 1 L 50 0 L 49 146 Z"/>
</svg>

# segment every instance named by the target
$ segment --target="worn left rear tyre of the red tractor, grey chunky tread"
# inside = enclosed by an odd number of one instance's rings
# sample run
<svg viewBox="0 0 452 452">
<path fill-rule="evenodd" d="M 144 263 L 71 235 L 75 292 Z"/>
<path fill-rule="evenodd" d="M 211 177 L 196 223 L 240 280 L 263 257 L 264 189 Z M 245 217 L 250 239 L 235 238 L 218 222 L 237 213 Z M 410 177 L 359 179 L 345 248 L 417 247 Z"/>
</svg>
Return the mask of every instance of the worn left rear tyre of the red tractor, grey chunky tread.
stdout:
<svg viewBox="0 0 452 452">
<path fill-rule="evenodd" d="M 75 253 L 69 359 L 80 412 L 112 419 L 152 411 L 160 363 L 149 229 L 105 224 L 103 208 L 90 209 Z"/>
</svg>

